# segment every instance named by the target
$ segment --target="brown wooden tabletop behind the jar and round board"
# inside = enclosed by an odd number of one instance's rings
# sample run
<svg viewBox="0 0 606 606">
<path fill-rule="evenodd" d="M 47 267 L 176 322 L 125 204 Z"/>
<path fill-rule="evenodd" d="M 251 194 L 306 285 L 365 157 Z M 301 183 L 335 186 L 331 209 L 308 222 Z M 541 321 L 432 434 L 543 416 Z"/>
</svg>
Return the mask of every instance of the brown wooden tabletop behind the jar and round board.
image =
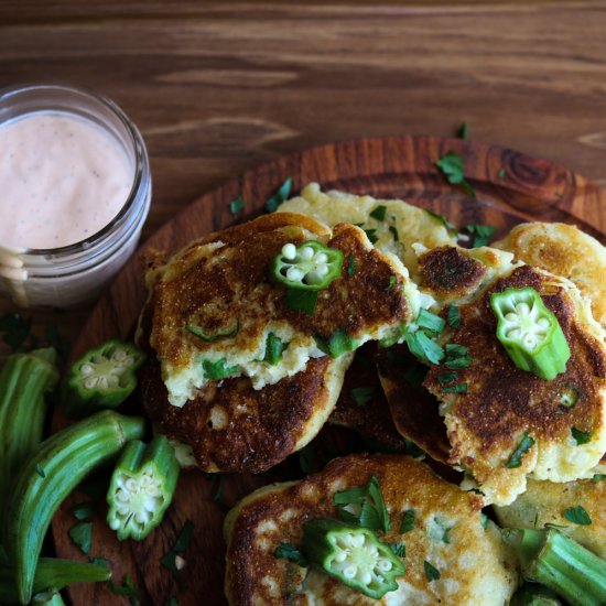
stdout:
<svg viewBox="0 0 606 606">
<path fill-rule="evenodd" d="M 604 31 L 605 2 L 0 1 L 0 83 L 68 80 L 125 109 L 151 158 L 147 238 L 289 152 L 462 122 L 606 185 Z M 73 339 L 89 309 L 20 313 Z"/>
</svg>

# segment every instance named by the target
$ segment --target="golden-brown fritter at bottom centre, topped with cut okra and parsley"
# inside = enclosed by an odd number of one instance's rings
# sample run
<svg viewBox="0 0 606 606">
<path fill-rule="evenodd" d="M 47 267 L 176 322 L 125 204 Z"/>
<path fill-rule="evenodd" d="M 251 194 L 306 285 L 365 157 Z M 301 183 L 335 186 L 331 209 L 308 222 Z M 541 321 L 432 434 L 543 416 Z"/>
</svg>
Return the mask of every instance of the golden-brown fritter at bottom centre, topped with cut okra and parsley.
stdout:
<svg viewBox="0 0 606 606">
<path fill-rule="evenodd" d="M 337 518 L 337 491 L 378 479 L 389 511 L 388 543 L 405 545 L 399 588 L 375 600 L 328 577 L 274 555 L 282 543 L 302 544 L 304 521 Z M 502 606 L 516 583 L 513 561 L 496 527 L 483 524 L 483 499 L 434 475 L 404 455 L 351 455 L 334 459 L 301 483 L 272 485 L 245 498 L 225 521 L 226 595 L 231 606 L 293 604 L 407 604 Z M 404 512 L 412 530 L 401 533 Z M 430 581 L 425 562 L 439 580 Z"/>
</svg>

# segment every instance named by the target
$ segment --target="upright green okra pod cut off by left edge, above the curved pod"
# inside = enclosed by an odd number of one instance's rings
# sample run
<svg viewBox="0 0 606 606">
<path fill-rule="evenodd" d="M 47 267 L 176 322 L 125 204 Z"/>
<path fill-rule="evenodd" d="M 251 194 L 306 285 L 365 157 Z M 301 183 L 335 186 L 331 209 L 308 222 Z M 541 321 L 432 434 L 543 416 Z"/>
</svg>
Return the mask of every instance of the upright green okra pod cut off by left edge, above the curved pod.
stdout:
<svg viewBox="0 0 606 606">
<path fill-rule="evenodd" d="M 45 394 L 58 381 L 52 347 L 13 354 L 0 370 L 0 517 L 15 470 L 42 441 Z"/>
</svg>

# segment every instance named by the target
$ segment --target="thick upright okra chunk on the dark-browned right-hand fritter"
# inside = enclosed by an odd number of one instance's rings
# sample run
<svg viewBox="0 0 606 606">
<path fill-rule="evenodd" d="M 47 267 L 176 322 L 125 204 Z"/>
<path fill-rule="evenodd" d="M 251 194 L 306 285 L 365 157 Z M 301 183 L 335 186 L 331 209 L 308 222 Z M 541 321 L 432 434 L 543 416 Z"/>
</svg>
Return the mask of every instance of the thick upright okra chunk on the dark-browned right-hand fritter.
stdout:
<svg viewBox="0 0 606 606">
<path fill-rule="evenodd" d="M 518 368 L 549 381 L 566 370 L 566 337 L 533 288 L 494 293 L 490 306 L 498 320 L 497 338 Z"/>
</svg>

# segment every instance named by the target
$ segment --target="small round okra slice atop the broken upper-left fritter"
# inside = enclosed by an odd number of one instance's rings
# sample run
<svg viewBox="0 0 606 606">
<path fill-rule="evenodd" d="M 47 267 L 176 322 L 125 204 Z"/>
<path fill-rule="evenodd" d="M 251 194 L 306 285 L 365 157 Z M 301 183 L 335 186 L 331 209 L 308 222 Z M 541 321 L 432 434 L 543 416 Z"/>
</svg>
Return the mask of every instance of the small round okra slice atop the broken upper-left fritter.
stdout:
<svg viewBox="0 0 606 606">
<path fill-rule="evenodd" d="M 291 289 L 318 291 L 340 277 L 343 252 L 317 240 L 285 244 L 273 259 L 273 278 Z"/>
</svg>

